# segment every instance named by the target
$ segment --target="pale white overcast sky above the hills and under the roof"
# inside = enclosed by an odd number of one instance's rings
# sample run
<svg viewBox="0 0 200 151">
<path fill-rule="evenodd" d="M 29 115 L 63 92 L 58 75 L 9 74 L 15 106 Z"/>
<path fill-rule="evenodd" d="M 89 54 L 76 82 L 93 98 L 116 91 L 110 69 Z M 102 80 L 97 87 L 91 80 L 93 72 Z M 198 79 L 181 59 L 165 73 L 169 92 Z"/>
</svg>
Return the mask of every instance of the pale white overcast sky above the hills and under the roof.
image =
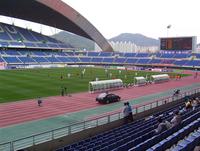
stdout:
<svg viewBox="0 0 200 151">
<path fill-rule="evenodd" d="M 88 19 L 106 38 L 120 33 L 141 33 L 158 39 L 167 36 L 200 36 L 199 0 L 63 0 Z M 24 21 L 5 19 L 43 34 L 58 30 Z"/>
</svg>

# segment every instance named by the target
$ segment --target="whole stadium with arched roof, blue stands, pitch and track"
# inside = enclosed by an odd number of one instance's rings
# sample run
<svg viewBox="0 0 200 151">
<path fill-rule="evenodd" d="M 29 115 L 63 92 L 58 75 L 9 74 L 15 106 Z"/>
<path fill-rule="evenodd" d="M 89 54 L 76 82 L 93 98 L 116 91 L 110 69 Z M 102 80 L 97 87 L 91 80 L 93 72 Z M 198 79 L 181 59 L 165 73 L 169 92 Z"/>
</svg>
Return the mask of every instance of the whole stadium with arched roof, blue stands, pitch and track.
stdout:
<svg viewBox="0 0 200 151">
<path fill-rule="evenodd" d="M 102 50 L 1 22 L 0 151 L 200 150 L 196 36 L 161 37 L 156 53 L 116 52 L 61 0 L 1 0 L 0 15 L 83 36 Z M 102 94 L 119 97 L 96 101 Z M 163 121 L 171 123 L 162 130 Z"/>
</svg>

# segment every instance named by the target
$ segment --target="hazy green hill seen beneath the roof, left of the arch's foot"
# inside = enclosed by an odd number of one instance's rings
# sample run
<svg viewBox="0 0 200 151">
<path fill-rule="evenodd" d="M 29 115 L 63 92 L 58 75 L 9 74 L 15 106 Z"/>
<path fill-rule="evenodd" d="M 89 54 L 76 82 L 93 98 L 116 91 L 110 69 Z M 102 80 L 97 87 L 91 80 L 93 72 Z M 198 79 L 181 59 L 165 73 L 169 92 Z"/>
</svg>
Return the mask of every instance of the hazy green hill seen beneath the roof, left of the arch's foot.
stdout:
<svg viewBox="0 0 200 151">
<path fill-rule="evenodd" d="M 52 37 L 64 43 L 68 43 L 75 48 L 94 50 L 94 42 L 92 40 L 66 31 L 61 31 Z"/>
</svg>

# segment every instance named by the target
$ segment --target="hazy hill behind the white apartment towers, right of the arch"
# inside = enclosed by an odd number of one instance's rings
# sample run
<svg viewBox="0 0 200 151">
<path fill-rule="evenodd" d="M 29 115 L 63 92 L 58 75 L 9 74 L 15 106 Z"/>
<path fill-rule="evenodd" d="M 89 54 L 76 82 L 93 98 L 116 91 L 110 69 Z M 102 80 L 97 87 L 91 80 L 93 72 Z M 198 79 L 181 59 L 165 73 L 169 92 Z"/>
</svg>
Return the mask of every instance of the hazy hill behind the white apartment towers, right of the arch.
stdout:
<svg viewBox="0 0 200 151">
<path fill-rule="evenodd" d="M 146 37 L 142 34 L 123 33 L 116 37 L 109 39 L 109 41 L 123 41 L 132 42 L 137 46 L 159 46 L 159 40 Z"/>
</svg>

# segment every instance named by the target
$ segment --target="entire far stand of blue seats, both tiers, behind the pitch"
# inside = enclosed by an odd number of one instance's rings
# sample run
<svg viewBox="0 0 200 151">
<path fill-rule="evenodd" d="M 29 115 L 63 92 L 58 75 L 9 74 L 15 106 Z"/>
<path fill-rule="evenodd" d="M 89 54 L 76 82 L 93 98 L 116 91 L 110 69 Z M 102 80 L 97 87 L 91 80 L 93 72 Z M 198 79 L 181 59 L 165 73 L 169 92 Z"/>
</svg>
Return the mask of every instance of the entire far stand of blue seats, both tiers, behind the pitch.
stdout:
<svg viewBox="0 0 200 151">
<path fill-rule="evenodd" d="M 110 52 L 86 52 L 86 51 L 55 51 L 49 49 L 22 49 L 22 48 L 14 48 L 14 49 L 3 49 L 0 50 L 0 54 L 2 56 L 1 62 L 15 65 L 21 65 L 26 62 L 26 65 L 30 62 L 40 63 L 40 64 L 57 64 L 57 63 L 82 63 L 82 64 L 131 64 L 131 65 L 157 65 L 157 66 L 175 66 L 175 67 L 199 67 L 200 60 L 199 59 L 190 59 L 179 57 L 191 57 L 196 54 L 178 54 L 178 58 L 168 58 L 169 54 L 165 55 L 165 58 L 152 57 L 153 54 L 148 54 L 149 57 L 136 57 L 136 56 L 147 56 L 147 54 L 142 53 L 141 55 L 133 53 L 110 53 Z M 158 53 L 157 53 L 158 54 Z M 125 57 L 128 56 L 128 57 Z M 163 54 L 162 54 L 163 56 Z M 11 58 L 10 58 L 11 57 Z M 16 57 L 23 57 L 23 61 L 19 61 Z M 26 60 L 25 57 L 27 57 Z M 39 58 L 37 58 L 39 57 Z M 45 59 L 45 57 L 48 57 Z M 5 58 L 5 59 L 4 59 Z M 10 58 L 10 59 L 9 59 Z M 15 58 L 15 59 L 14 59 Z M 35 61 L 31 61 L 30 58 L 33 58 Z M 43 58 L 43 60 L 41 60 Z M 29 60 L 29 61 L 28 61 Z"/>
</svg>

